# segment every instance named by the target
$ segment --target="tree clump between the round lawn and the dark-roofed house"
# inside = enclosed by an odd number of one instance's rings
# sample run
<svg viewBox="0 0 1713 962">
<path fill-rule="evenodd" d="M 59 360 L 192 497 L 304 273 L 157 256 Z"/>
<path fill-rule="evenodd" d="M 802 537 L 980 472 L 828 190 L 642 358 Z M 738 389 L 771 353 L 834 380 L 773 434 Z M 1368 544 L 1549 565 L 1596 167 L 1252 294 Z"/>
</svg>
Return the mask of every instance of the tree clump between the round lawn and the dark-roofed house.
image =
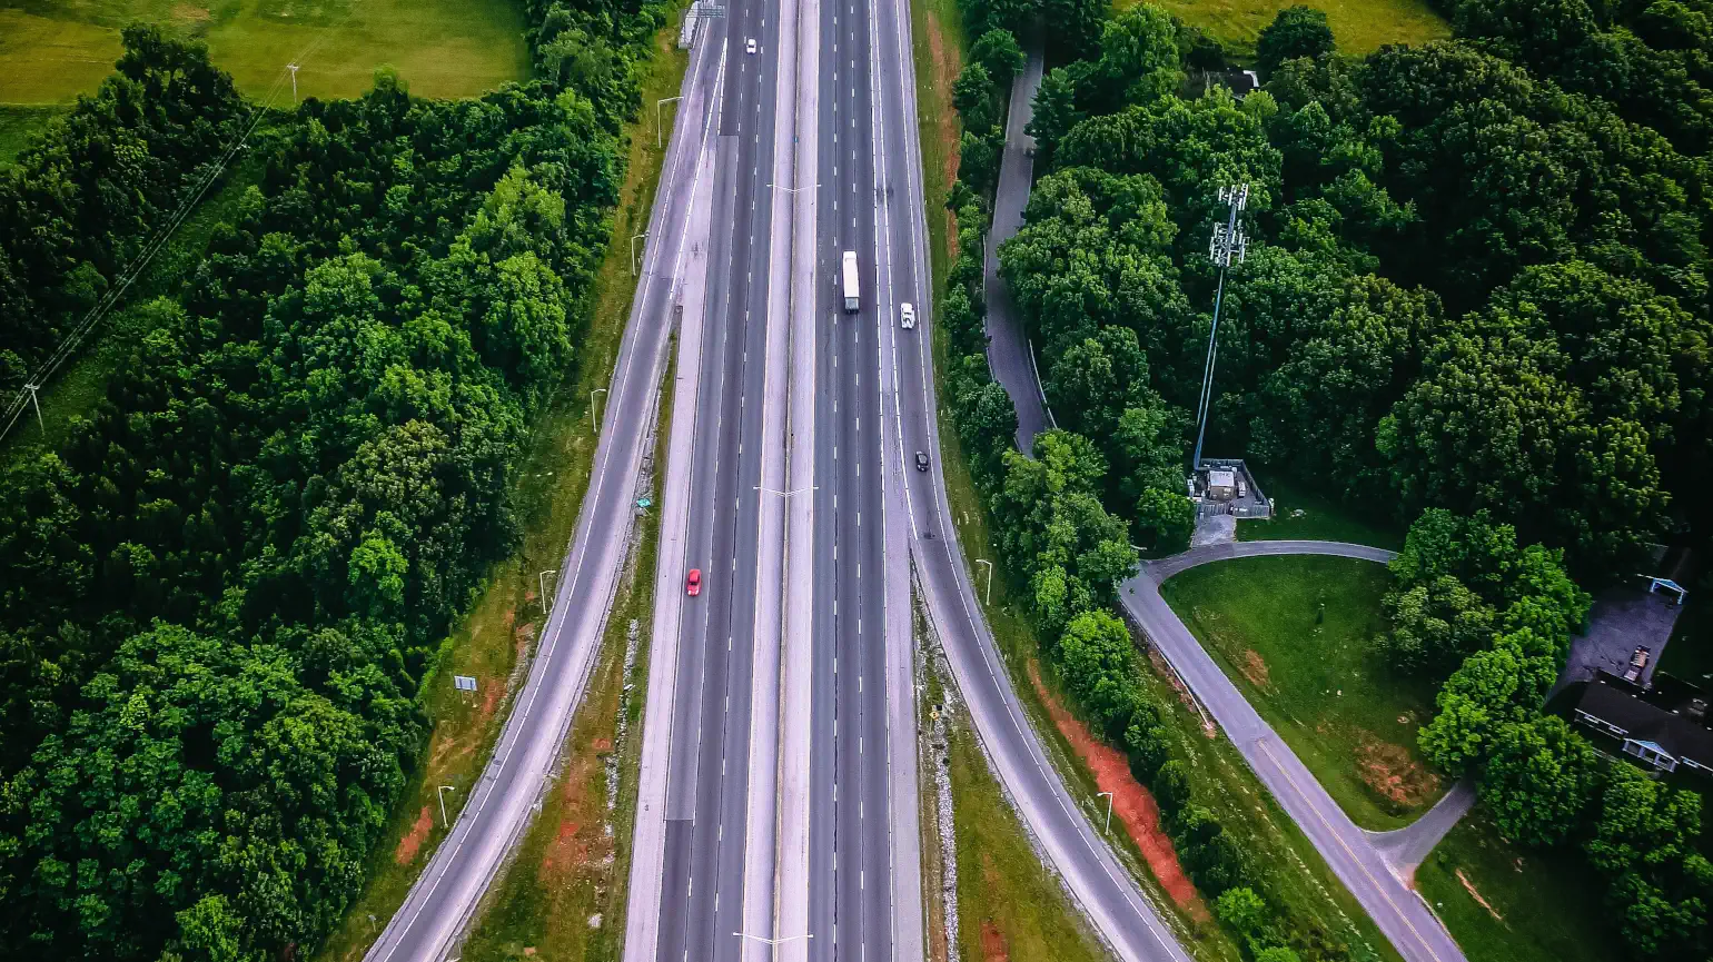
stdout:
<svg viewBox="0 0 1713 962">
<path fill-rule="evenodd" d="M 1701 796 L 1605 762 L 1562 717 L 1542 714 L 1590 604 L 1561 553 L 1519 548 L 1511 526 L 1483 514 L 1429 510 L 1393 575 L 1396 661 L 1432 673 L 1456 664 L 1420 733 L 1429 760 L 1473 777 L 1506 837 L 1579 844 L 1638 957 L 1703 957 L 1713 864 L 1698 851 Z"/>
</svg>

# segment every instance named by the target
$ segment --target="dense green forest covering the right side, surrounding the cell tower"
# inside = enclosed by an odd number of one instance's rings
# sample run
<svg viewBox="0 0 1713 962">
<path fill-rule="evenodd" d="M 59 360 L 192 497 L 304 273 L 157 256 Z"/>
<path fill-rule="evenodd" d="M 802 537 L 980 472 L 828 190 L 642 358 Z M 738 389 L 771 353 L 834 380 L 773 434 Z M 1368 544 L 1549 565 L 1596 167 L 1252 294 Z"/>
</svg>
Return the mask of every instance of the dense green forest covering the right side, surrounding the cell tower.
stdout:
<svg viewBox="0 0 1713 962">
<path fill-rule="evenodd" d="M 1194 524 L 1208 238 L 1237 183 L 1250 243 L 1223 291 L 1209 452 L 1415 519 L 1381 644 L 1444 683 L 1425 755 L 1475 777 L 1509 837 L 1579 847 L 1638 959 L 1713 948 L 1699 798 L 1542 714 L 1588 613 L 1571 575 L 1600 585 L 1713 524 L 1694 490 L 1713 471 L 1708 10 L 1470 0 L 1458 38 L 1355 60 L 1293 7 L 1238 101 L 1208 82 L 1220 46 L 1158 9 L 964 3 L 946 402 L 1045 654 L 1254 959 L 1346 948 L 1196 805 L 1108 613 L 1131 541 L 1172 551 Z M 1059 416 L 1024 457 L 983 351 L 982 224 L 1014 38 L 1042 21 L 1059 65 L 1030 127 L 1038 180 L 999 255 Z"/>
</svg>

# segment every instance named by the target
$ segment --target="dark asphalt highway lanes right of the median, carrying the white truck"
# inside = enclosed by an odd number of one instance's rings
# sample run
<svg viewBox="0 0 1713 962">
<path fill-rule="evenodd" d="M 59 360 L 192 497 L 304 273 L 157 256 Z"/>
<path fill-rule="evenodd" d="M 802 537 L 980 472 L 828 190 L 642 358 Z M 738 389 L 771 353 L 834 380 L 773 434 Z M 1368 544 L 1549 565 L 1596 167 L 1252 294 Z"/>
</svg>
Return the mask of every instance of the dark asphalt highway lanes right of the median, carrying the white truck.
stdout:
<svg viewBox="0 0 1713 962">
<path fill-rule="evenodd" d="M 886 722 L 886 515 L 880 454 L 884 291 L 875 193 L 872 7 L 819 5 L 815 531 L 810 671 L 810 960 L 892 959 Z M 805 79 L 805 82 L 810 82 Z M 843 252 L 855 252 L 860 310 L 846 312 Z M 898 291 L 891 291 L 894 296 Z M 908 695 L 906 695 L 908 697 Z M 920 902 L 920 892 L 908 897 Z"/>
</svg>

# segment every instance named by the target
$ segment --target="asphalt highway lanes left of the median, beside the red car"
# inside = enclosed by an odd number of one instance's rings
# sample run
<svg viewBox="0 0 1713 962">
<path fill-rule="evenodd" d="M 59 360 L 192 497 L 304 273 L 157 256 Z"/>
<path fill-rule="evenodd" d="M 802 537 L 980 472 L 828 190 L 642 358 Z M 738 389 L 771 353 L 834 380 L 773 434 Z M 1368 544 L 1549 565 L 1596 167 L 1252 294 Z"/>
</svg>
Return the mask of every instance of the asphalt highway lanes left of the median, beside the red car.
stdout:
<svg viewBox="0 0 1713 962">
<path fill-rule="evenodd" d="M 735 935 L 747 929 L 745 906 L 773 904 L 771 892 L 745 883 L 773 878 L 771 835 L 750 837 L 757 815 L 750 750 L 752 717 L 773 717 L 778 698 L 752 681 L 757 669 L 767 674 L 767 659 L 778 661 L 778 630 L 759 628 L 757 611 L 779 587 L 778 575 L 771 584 L 761 575 L 762 556 L 778 556 L 776 536 L 771 544 L 762 536 L 762 498 L 773 496 L 761 491 L 764 462 L 783 459 L 764 438 L 779 22 L 769 3 L 738 0 L 726 7 L 725 27 L 723 38 L 702 41 L 725 45 L 726 75 L 716 122 L 702 368 L 694 406 L 680 407 L 695 418 L 685 567 L 702 572 L 702 589 L 682 603 L 678 620 L 660 962 L 738 960 L 749 948 Z M 745 51 L 750 38 L 755 55 Z M 771 803 L 773 793 L 766 794 Z M 771 825 L 771 811 L 761 820 Z M 755 859 L 762 859 L 759 873 Z"/>
</svg>

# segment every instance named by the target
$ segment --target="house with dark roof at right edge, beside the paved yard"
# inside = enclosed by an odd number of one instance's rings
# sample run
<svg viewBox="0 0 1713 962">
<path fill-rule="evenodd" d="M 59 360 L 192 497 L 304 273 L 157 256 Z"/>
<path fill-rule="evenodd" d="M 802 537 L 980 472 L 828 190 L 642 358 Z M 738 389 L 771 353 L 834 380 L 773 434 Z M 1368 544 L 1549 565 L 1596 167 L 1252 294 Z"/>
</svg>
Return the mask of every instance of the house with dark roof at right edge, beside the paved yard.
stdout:
<svg viewBox="0 0 1713 962">
<path fill-rule="evenodd" d="M 1704 692 L 1670 674 L 1650 688 L 1600 671 L 1576 702 L 1574 721 L 1622 743 L 1624 755 L 1660 772 L 1713 772 Z"/>
</svg>

